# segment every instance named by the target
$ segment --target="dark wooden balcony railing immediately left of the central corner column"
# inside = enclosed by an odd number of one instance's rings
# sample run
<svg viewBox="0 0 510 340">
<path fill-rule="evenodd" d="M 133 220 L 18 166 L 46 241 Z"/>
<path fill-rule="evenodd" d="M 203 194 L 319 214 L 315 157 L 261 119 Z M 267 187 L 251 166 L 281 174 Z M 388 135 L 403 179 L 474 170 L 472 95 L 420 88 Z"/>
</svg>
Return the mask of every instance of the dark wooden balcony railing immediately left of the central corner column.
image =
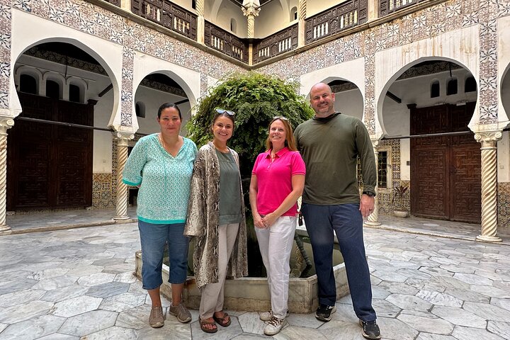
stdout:
<svg viewBox="0 0 510 340">
<path fill-rule="evenodd" d="M 204 43 L 237 60 L 248 63 L 248 45 L 232 33 L 205 21 Z"/>
</svg>

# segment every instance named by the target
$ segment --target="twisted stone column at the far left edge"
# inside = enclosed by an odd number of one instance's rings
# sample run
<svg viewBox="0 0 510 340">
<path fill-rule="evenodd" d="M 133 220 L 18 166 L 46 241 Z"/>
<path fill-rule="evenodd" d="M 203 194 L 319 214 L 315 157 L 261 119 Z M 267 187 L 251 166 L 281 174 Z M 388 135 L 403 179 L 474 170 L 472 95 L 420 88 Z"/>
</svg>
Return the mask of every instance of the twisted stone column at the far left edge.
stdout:
<svg viewBox="0 0 510 340">
<path fill-rule="evenodd" d="M 11 234 L 11 227 L 6 223 L 7 130 L 13 125 L 12 118 L 0 118 L 0 234 Z"/>
</svg>

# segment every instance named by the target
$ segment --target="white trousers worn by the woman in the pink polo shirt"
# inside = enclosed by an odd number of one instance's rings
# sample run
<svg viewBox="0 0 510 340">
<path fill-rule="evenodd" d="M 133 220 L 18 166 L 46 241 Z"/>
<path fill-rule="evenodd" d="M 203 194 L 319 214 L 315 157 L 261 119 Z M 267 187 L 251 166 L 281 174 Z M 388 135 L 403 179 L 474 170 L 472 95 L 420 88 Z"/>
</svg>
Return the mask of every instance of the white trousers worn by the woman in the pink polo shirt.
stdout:
<svg viewBox="0 0 510 340">
<path fill-rule="evenodd" d="M 295 216 L 282 216 L 269 228 L 255 227 L 262 261 L 268 274 L 271 310 L 278 319 L 285 319 L 288 309 L 289 259 L 296 222 Z"/>
</svg>

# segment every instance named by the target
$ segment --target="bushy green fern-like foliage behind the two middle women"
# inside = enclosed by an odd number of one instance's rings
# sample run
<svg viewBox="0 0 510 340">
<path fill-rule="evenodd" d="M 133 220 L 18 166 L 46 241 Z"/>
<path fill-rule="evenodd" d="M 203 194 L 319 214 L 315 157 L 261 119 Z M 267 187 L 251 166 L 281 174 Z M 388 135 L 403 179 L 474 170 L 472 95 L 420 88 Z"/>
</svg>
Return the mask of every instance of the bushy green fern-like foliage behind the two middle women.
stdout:
<svg viewBox="0 0 510 340">
<path fill-rule="evenodd" d="M 257 154 L 265 150 L 268 125 L 276 115 L 283 115 L 295 128 L 313 115 L 303 96 L 297 94 L 297 81 L 248 72 L 232 74 L 204 96 L 196 115 L 189 121 L 188 137 L 200 147 L 212 140 L 211 123 L 215 109 L 234 111 L 234 135 L 229 147 L 239 154 L 241 176 L 248 179 Z"/>
</svg>

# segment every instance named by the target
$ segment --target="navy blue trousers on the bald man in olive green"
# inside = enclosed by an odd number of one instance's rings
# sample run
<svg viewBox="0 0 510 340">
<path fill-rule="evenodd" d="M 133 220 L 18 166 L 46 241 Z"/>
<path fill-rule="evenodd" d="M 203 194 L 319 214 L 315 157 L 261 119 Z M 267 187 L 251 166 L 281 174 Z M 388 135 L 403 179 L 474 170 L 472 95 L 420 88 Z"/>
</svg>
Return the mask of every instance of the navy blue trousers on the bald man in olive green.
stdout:
<svg viewBox="0 0 510 340">
<path fill-rule="evenodd" d="M 363 217 L 358 203 L 342 205 L 302 204 L 302 214 L 312 243 L 319 283 L 319 304 L 333 306 L 336 285 L 333 275 L 333 232 L 344 256 L 354 312 L 363 321 L 376 319 L 372 285 L 363 243 Z"/>
</svg>

